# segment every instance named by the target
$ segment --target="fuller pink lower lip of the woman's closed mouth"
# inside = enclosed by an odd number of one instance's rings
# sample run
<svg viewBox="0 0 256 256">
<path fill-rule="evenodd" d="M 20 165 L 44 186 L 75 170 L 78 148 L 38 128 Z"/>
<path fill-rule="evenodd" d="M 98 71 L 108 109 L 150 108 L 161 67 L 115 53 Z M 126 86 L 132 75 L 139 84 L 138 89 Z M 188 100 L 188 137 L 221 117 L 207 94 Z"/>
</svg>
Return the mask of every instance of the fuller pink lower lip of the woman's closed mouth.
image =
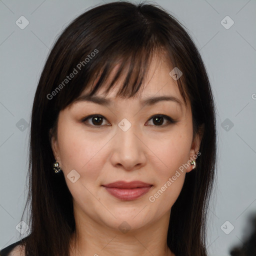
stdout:
<svg viewBox="0 0 256 256">
<path fill-rule="evenodd" d="M 151 186 L 136 187 L 136 188 L 116 188 L 106 187 L 105 189 L 113 196 L 121 200 L 134 200 L 143 194 L 147 193 Z"/>
</svg>

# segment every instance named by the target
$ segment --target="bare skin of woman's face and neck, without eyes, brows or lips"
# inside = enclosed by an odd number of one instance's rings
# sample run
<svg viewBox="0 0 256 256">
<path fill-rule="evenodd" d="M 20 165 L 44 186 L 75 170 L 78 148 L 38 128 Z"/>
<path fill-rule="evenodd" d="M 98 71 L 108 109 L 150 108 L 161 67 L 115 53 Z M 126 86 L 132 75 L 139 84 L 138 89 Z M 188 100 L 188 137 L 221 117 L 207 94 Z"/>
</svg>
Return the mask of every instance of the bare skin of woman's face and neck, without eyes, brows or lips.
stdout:
<svg viewBox="0 0 256 256">
<path fill-rule="evenodd" d="M 170 70 L 167 62 L 155 56 L 146 86 L 135 97 L 116 97 L 117 82 L 108 94 L 103 88 L 96 93 L 111 99 L 111 105 L 83 101 L 60 111 L 57 138 L 52 137 L 51 146 L 73 197 L 76 234 L 71 239 L 71 255 L 174 256 L 166 243 L 169 216 L 192 166 L 180 171 L 154 202 L 149 196 L 192 159 L 201 137 L 197 135 L 192 141 L 190 102 L 185 107 Z M 162 95 L 175 96 L 181 104 L 166 100 L 147 106 L 139 103 L 140 99 Z M 98 124 L 100 128 L 93 118 L 82 122 L 90 114 L 105 118 Z M 156 114 L 177 122 L 165 125 L 168 121 L 163 119 L 157 126 L 155 118 L 150 118 Z M 123 118 L 131 123 L 125 132 L 118 127 Z M 80 175 L 74 183 L 67 177 L 72 169 Z M 141 180 L 153 186 L 141 197 L 125 201 L 101 186 L 117 180 Z M 126 233 L 118 228 L 123 221 L 130 226 Z"/>
</svg>

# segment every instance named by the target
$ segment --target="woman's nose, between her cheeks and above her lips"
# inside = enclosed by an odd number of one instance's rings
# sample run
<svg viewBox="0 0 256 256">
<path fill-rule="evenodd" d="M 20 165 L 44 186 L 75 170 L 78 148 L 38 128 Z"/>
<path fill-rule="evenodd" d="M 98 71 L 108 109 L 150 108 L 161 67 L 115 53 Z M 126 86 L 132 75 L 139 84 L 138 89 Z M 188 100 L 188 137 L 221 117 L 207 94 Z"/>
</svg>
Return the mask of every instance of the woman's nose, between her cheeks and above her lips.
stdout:
<svg viewBox="0 0 256 256">
<path fill-rule="evenodd" d="M 141 168 L 146 163 L 146 145 L 143 143 L 142 133 L 135 125 L 124 131 L 117 128 L 112 140 L 110 160 L 113 166 L 124 170 Z"/>
</svg>

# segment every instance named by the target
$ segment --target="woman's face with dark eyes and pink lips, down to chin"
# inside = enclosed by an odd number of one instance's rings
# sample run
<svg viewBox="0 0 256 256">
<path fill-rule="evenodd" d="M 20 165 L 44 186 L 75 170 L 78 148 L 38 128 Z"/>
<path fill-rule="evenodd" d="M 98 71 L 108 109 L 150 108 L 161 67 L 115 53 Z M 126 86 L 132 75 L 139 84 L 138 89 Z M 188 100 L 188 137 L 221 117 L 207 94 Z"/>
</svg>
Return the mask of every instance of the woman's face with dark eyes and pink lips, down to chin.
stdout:
<svg viewBox="0 0 256 256">
<path fill-rule="evenodd" d="M 108 94 L 95 95 L 107 105 L 80 100 L 60 111 L 52 148 L 76 218 L 120 230 L 168 221 L 200 144 L 198 136 L 192 141 L 190 102 L 186 108 L 169 72 L 166 62 L 154 58 L 135 97 L 115 97 L 117 83 Z M 160 96 L 175 99 L 143 103 Z M 140 188 L 125 183 L 131 181 Z"/>
</svg>

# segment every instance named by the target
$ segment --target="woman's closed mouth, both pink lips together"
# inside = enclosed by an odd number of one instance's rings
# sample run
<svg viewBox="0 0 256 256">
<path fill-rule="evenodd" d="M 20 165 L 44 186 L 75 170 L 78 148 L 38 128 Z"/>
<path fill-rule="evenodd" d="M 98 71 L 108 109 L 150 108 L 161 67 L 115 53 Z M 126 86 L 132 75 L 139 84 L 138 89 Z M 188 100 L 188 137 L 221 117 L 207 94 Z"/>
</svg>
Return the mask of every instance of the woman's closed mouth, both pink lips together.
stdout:
<svg viewBox="0 0 256 256">
<path fill-rule="evenodd" d="M 147 193 L 153 185 L 139 180 L 131 182 L 120 180 L 102 186 L 118 199 L 134 200 Z"/>
</svg>

